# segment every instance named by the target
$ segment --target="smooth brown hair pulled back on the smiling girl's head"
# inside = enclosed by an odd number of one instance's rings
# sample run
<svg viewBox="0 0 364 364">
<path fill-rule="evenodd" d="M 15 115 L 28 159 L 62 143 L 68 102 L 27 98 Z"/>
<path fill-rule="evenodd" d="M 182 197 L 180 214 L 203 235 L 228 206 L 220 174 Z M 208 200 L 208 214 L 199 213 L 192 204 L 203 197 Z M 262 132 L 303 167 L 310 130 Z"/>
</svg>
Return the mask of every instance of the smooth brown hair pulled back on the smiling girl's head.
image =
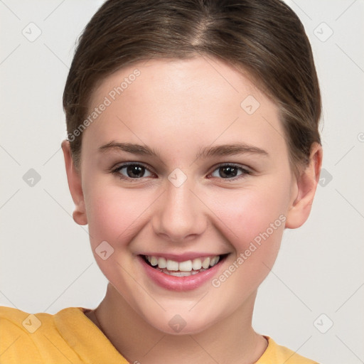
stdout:
<svg viewBox="0 0 364 364">
<path fill-rule="evenodd" d="M 75 165 L 82 132 L 73 132 L 105 76 L 141 60 L 203 54 L 259 82 L 279 106 L 291 165 L 305 166 L 311 144 L 321 144 L 321 95 L 304 26 L 280 0 L 106 1 L 80 36 L 63 94 Z"/>
</svg>

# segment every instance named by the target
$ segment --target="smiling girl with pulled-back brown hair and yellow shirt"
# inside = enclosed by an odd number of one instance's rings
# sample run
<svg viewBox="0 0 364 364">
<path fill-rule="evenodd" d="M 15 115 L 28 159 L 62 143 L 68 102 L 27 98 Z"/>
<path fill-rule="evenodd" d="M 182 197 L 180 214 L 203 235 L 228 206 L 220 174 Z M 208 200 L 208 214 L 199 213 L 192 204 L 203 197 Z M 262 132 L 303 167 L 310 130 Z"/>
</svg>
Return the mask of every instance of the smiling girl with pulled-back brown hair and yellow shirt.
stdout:
<svg viewBox="0 0 364 364">
<path fill-rule="evenodd" d="M 321 170 L 319 84 L 294 12 L 106 1 L 63 106 L 73 217 L 107 294 L 94 310 L 1 308 L 0 360 L 314 363 L 252 328 L 259 284 L 284 229 L 308 218 Z"/>
</svg>

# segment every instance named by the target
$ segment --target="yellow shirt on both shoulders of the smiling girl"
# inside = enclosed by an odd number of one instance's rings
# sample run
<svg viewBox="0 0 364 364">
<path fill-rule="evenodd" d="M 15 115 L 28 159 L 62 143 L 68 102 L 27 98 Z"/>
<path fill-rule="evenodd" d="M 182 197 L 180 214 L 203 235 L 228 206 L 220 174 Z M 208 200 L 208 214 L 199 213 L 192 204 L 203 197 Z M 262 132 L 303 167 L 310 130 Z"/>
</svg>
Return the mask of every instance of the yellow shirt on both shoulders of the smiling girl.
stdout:
<svg viewBox="0 0 364 364">
<path fill-rule="evenodd" d="M 0 306 L 0 364 L 128 364 L 85 311 L 29 315 Z M 255 364 L 318 364 L 265 337 L 267 350 Z"/>
</svg>

